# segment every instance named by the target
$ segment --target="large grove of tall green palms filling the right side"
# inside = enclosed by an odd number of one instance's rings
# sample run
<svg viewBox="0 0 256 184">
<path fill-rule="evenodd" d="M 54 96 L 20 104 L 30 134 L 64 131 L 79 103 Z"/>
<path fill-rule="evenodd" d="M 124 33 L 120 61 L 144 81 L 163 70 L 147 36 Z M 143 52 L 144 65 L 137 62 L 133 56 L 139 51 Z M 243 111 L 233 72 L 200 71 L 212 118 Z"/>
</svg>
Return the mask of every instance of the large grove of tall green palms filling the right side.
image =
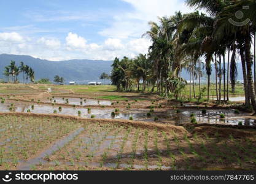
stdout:
<svg viewBox="0 0 256 184">
<path fill-rule="evenodd" d="M 176 12 L 170 17 L 159 18 L 157 23 L 150 21 L 150 30 L 142 35 L 152 41 L 149 52 L 135 59 L 115 58 L 112 83 L 119 91 L 130 91 L 134 82 L 139 90 L 142 80 L 143 91 L 150 84 L 152 92 L 156 88 L 157 94 L 161 96 L 179 98 L 186 84 L 181 77 L 182 70 L 185 70 L 190 74 L 189 98 L 201 98 L 204 68 L 208 76 L 208 101 L 211 76 L 214 75 L 217 101 L 223 99 L 226 102 L 229 100 L 230 88 L 231 92 L 235 92 L 239 59 L 244 79 L 245 105 L 253 107 L 256 112 L 256 2 L 187 0 L 186 3 L 190 7 L 205 10 L 207 14 L 198 11 L 185 14 Z M 195 94 L 195 79 L 199 81 L 199 96 Z"/>
</svg>

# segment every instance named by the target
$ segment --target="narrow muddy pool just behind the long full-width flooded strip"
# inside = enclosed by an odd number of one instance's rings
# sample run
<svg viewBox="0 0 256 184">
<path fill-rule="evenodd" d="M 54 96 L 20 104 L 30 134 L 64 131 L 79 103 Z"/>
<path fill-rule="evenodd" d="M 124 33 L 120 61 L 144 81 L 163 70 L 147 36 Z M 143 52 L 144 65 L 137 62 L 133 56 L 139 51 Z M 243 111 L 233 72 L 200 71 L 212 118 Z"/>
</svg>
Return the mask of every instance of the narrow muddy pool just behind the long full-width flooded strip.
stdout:
<svg viewBox="0 0 256 184">
<path fill-rule="evenodd" d="M 111 105 L 111 101 L 103 101 L 103 100 L 96 100 L 96 99 L 80 99 L 80 98 L 60 98 L 55 97 L 52 98 L 52 101 L 50 99 L 44 99 L 43 102 L 54 102 L 56 101 L 57 104 L 66 104 L 66 99 L 68 99 L 68 104 L 71 105 Z M 81 104 L 82 102 L 82 104 Z"/>
</svg>

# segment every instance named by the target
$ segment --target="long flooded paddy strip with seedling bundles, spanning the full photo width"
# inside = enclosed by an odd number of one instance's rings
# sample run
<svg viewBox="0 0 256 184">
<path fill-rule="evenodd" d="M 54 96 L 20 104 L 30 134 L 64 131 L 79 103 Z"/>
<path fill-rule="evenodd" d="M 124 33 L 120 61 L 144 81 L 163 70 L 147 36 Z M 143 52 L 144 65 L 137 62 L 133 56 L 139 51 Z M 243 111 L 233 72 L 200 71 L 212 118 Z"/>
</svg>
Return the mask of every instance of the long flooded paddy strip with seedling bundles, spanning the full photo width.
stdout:
<svg viewBox="0 0 256 184">
<path fill-rule="evenodd" d="M 62 100 L 62 99 L 61 99 Z M 0 104 L 0 112 L 10 112 L 10 104 L 4 103 Z M 87 108 L 76 108 L 76 107 L 62 107 L 59 110 L 59 106 L 55 105 L 40 105 L 34 104 L 34 108 L 28 104 L 14 104 L 12 111 L 14 112 L 27 112 L 29 109 L 31 113 L 45 113 L 52 114 L 54 111 L 57 114 L 61 115 L 74 115 L 78 116 L 80 111 L 80 117 L 91 118 L 91 115 L 95 115 L 95 118 L 105 118 L 105 119 L 123 119 L 129 120 L 130 117 L 133 117 L 133 120 L 140 121 L 149 121 L 153 122 L 155 117 L 158 117 L 158 122 L 168 123 L 171 121 L 176 125 L 182 125 L 184 123 L 190 123 L 190 115 L 195 114 L 196 121 L 198 123 L 209 123 L 209 124 L 222 124 L 222 125 L 238 125 L 239 122 L 242 125 L 255 126 L 256 121 L 250 118 L 244 118 L 241 114 L 235 114 L 234 110 L 223 110 L 223 109 L 208 109 L 206 113 L 202 113 L 201 110 L 193 109 L 182 109 L 180 113 L 177 113 L 176 110 L 166 110 L 152 113 L 151 117 L 147 117 L 147 112 L 149 109 L 126 109 L 124 112 L 115 114 L 114 117 L 111 116 L 111 112 L 114 112 L 114 109 L 93 109 L 88 113 Z M 220 114 L 224 114 L 225 118 L 220 118 Z"/>
</svg>

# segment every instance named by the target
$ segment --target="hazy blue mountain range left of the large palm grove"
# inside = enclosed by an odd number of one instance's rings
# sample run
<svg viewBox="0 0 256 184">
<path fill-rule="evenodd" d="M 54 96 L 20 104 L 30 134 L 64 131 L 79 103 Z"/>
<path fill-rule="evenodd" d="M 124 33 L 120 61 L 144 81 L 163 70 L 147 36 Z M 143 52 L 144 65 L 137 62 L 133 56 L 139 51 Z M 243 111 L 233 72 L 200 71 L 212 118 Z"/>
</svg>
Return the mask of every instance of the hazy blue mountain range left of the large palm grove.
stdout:
<svg viewBox="0 0 256 184">
<path fill-rule="evenodd" d="M 48 61 L 44 59 L 33 58 L 31 56 L 21 55 L 0 55 L 0 78 L 4 79 L 4 67 L 14 60 L 17 65 L 23 61 L 26 65 L 32 67 L 35 71 L 36 80 L 48 78 L 53 80 L 55 75 L 64 77 L 65 82 L 76 81 L 77 83 L 87 83 L 90 81 L 99 81 L 99 75 L 103 72 L 111 73 L 112 61 L 73 59 L 69 61 Z M 19 79 L 23 79 L 23 74 Z"/>
</svg>

